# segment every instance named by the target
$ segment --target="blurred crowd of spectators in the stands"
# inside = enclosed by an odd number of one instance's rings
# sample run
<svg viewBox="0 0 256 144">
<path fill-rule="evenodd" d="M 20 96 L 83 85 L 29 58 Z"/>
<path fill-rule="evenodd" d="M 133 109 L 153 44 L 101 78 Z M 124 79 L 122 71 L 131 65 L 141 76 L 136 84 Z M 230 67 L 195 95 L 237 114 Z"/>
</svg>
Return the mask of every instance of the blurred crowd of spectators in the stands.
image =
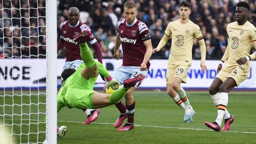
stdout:
<svg viewBox="0 0 256 144">
<path fill-rule="evenodd" d="M 129 1 L 129 0 L 128 0 Z M 144 22 L 151 35 L 153 49 L 157 47 L 169 22 L 179 19 L 182 0 L 134 0 L 138 6 L 137 19 Z M 189 0 L 189 19 L 200 26 L 206 45 L 206 59 L 221 59 L 227 47 L 227 24 L 235 21 L 235 8 L 240 0 Z M 256 26 L 256 1 L 250 4 L 248 21 Z M 102 48 L 103 58 L 113 58 L 117 35 L 116 24 L 124 19 L 124 0 L 57 0 L 57 38 L 60 24 L 67 21 L 68 9 L 80 10 L 80 21 L 87 24 Z M 46 54 L 45 0 L 0 0 L 0 58 L 45 58 Z M 49 32 L 50 33 L 50 32 Z M 91 51 L 95 54 L 92 46 Z M 166 46 L 152 59 L 168 59 L 171 37 Z M 255 51 L 254 46 L 250 54 Z M 195 40 L 193 59 L 200 59 L 200 46 Z M 65 49 L 58 52 L 65 58 Z"/>
</svg>

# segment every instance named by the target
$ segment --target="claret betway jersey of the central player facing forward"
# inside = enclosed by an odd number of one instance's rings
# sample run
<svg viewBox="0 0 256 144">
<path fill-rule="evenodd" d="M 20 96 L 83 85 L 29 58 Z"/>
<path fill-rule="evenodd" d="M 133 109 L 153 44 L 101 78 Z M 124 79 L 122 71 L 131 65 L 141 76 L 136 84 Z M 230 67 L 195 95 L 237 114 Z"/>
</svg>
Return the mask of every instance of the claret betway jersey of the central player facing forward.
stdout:
<svg viewBox="0 0 256 144">
<path fill-rule="evenodd" d="M 127 24 L 126 19 L 122 19 L 118 22 L 117 29 L 123 50 L 122 66 L 140 67 L 147 50 L 143 42 L 150 40 L 146 24 L 137 19 L 132 24 Z M 147 62 L 147 69 L 149 66 L 150 63 Z"/>
</svg>

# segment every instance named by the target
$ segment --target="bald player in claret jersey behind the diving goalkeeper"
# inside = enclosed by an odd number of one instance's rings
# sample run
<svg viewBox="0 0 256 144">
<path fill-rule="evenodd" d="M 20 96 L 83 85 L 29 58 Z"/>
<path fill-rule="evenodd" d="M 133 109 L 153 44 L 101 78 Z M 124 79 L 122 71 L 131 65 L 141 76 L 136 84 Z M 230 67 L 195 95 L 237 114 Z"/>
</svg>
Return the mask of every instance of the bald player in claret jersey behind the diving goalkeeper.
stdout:
<svg viewBox="0 0 256 144">
<path fill-rule="evenodd" d="M 67 68 L 74 68 L 77 70 L 79 65 L 83 63 L 81 55 L 80 55 L 80 47 L 77 42 L 74 42 L 74 36 L 79 34 L 81 31 L 90 30 L 90 28 L 79 21 L 79 10 L 76 7 L 71 7 L 68 10 L 68 21 L 65 21 L 61 23 L 60 29 L 61 29 L 61 40 L 58 42 L 57 49 L 58 51 L 61 50 L 64 46 L 66 49 L 66 62 L 63 67 L 62 72 Z M 90 44 L 94 47 L 96 50 L 96 55 L 98 58 L 98 61 L 102 63 L 102 51 L 99 46 L 99 43 L 95 39 L 95 37 L 90 35 L 90 38 L 87 39 L 87 42 L 90 42 Z M 101 75 L 102 76 L 102 75 Z M 61 84 L 64 82 L 63 78 L 61 77 Z M 105 79 L 102 78 L 104 81 Z M 90 124 L 90 122 L 93 122 L 98 118 L 99 110 L 98 109 L 82 109 L 87 114 L 86 122 L 83 124 Z"/>
</svg>

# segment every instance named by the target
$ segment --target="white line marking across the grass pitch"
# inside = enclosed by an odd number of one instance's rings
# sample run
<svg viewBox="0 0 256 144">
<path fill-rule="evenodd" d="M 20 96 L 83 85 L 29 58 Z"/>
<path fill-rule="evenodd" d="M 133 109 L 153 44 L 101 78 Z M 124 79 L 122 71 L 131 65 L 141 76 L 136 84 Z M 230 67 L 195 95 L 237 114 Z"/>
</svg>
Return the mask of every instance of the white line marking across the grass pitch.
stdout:
<svg viewBox="0 0 256 144">
<path fill-rule="evenodd" d="M 8 119 L 8 120 L 11 120 L 11 119 Z M 20 120 L 20 119 L 17 119 L 17 120 Z M 22 119 L 22 120 L 29 120 L 29 119 Z M 45 121 L 45 120 L 33 120 L 33 121 Z M 58 120 L 58 122 L 75 122 L 75 121 Z M 83 123 L 83 122 L 75 122 L 75 123 Z M 91 122 L 91 123 L 92 124 L 103 124 L 103 125 L 115 125 L 115 124 L 111 124 L 111 123 L 101 123 L 101 122 Z M 211 129 L 194 129 L 194 128 L 184 128 L 184 127 L 161 127 L 161 126 L 151 126 L 151 125 L 135 125 L 135 126 L 138 126 L 138 127 L 159 127 L 159 128 L 171 128 L 171 129 L 192 129 L 192 130 L 201 130 L 201 131 L 213 131 Z M 256 132 L 247 132 L 247 131 L 226 131 L 226 132 L 256 134 Z"/>
</svg>

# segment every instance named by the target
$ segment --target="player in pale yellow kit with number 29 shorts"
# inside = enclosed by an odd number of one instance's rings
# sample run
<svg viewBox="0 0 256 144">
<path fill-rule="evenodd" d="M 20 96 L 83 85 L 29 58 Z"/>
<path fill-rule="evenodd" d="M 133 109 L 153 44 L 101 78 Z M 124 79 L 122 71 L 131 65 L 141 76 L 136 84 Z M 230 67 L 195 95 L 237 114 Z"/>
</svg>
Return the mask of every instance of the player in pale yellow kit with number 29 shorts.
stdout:
<svg viewBox="0 0 256 144">
<path fill-rule="evenodd" d="M 189 20 L 190 8 L 191 4 L 189 2 L 183 1 L 180 3 L 180 19 L 168 24 L 162 40 L 157 48 L 153 49 L 153 53 L 160 51 L 172 35 L 172 45 L 166 71 L 166 88 L 173 101 L 184 109 L 184 122 L 193 122 L 192 117 L 195 114 L 189 104 L 186 92 L 180 86 L 181 83 L 186 83 L 187 72 L 192 64 L 192 46 L 195 38 L 200 44 L 201 71 L 205 72 L 207 70 L 205 65 L 205 41 L 199 26 Z"/>
</svg>

